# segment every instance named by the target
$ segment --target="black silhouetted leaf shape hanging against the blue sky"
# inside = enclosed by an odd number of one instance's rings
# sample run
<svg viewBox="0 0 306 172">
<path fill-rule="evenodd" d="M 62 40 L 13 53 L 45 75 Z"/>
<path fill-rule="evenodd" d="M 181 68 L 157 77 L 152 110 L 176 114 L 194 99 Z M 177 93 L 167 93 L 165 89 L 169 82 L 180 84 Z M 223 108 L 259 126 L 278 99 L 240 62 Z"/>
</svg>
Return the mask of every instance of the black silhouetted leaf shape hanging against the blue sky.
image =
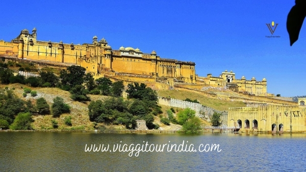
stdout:
<svg viewBox="0 0 306 172">
<path fill-rule="evenodd" d="M 290 38 L 290 46 L 298 40 L 299 32 L 302 28 L 306 16 L 306 1 L 296 0 L 287 17 L 287 31 Z"/>
</svg>

